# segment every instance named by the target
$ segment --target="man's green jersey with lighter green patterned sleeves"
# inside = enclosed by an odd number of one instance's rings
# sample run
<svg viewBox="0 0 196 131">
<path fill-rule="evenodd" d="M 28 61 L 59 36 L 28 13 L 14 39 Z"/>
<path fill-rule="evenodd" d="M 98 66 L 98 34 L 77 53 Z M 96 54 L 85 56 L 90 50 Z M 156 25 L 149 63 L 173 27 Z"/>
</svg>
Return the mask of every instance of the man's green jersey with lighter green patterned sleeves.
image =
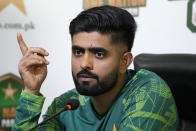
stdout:
<svg viewBox="0 0 196 131">
<path fill-rule="evenodd" d="M 89 97 L 75 89 L 54 99 L 44 119 L 60 111 L 71 99 L 78 99 L 77 110 L 61 113 L 39 127 L 40 131 L 177 131 L 179 119 L 167 84 L 156 74 L 139 70 L 127 71 L 128 78 L 109 111 L 100 116 L 92 108 Z M 25 94 L 25 95 L 24 95 Z M 37 98 L 40 98 L 39 100 Z M 41 100 L 42 99 L 42 100 Z M 21 94 L 13 130 L 27 130 L 37 124 L 43 96 Z M 39 103 L 39 104 L 38 104 Z M 32 107 L 30 109 L 29 107 Z M 40 109 L 40 110 L 38 110 Z M 25 113 L 24 113 L 25 112 Z"/>
</svg>

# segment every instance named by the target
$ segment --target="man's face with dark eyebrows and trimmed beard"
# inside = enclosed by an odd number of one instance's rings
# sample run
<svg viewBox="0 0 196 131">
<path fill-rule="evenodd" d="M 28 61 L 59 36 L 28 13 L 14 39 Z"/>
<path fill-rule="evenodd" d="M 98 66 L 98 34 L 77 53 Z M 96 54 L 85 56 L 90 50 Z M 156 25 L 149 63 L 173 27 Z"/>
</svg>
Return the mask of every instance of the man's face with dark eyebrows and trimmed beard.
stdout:
<svg viewBox="0 0 196 131">
<path fill-rule="evenodd" d="M 115 87 L 119 76 L 118 44 L 110 35 L 81 32 L 72 39 L 72 76 L 82 95 L 97 96 Z"/>
</svg>

